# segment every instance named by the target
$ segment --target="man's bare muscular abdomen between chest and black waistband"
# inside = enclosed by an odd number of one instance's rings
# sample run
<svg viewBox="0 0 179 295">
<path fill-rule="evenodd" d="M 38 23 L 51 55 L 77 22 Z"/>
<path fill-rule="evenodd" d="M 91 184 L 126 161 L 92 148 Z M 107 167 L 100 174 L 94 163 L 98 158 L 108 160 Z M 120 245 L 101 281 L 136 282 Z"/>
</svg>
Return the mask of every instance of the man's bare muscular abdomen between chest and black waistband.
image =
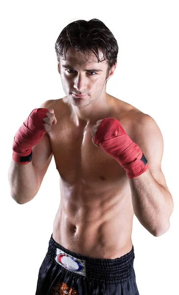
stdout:
<svg viewBox="0 0 179 295">
<path fill-rule="evenodd" d="M 98 259 L 116 259 L 132 249 L 131 194 L 100 190 L 88 194 L 82 185 L 60 186 L 60 207 L 53 238 L 64 248 Z"/>
</svg>

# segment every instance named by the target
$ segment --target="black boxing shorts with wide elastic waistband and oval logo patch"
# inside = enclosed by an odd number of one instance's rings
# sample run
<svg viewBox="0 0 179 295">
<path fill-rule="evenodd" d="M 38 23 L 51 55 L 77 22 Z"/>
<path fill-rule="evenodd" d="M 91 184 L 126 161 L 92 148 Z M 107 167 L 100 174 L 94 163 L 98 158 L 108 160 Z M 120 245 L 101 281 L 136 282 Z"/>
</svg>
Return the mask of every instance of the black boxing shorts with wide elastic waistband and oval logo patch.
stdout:
<svg viewBox="0 0 179 295">
<path fill-rule="evenodd" d="M 51 236 L 40 266 L 35 295 L 139 295 L 134 247 L 116 259 L 73 253 Z"/>
</svg>

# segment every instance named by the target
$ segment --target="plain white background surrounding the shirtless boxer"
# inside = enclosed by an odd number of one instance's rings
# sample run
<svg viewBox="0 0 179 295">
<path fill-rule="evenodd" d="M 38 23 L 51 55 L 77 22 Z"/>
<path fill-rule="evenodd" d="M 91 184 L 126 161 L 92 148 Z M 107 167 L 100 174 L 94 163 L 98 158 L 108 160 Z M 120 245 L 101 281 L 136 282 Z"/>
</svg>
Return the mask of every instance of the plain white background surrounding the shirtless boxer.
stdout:
<svg viewBox="0 0 179 295">
<path fill-rule="evenodd" d="M 117 4 L 118 3 L 118 4 Z M 106 91 L 149 114 L 164 139 L 162 171 L 174 199 L 169 231 L 152 236 L 134 215 L 134 269 L 140 295 L 179 292 L 178 1 L 3 1 L 0 7 L 1 294 L 34 295 L 60 204 L 54 157 L 35 198 L 18 205 L 7 178 L 15 133 L 42 102 L 65 96 L 55 42 L 70 22 L 98 18 L 119 45 Z"/>
</svg>

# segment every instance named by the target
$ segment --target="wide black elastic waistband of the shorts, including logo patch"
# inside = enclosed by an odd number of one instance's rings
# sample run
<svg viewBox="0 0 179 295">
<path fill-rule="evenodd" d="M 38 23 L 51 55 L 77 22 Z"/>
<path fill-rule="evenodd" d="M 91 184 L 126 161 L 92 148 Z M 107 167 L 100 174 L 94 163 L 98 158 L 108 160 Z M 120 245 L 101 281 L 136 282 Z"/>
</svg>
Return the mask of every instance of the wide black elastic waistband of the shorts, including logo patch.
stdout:
<svg viewBox="0 0 179 295">
<path fill-rule="evenodd" d="M 130 252 L 116 259 L 95 259 L 64 248 L 55 241 L 49 241 L 47 257 L 51 262 L 89 280 L 105 280 L 108 283 L 125 281 L 135 276 L 134 247 Z"/>
</svg>

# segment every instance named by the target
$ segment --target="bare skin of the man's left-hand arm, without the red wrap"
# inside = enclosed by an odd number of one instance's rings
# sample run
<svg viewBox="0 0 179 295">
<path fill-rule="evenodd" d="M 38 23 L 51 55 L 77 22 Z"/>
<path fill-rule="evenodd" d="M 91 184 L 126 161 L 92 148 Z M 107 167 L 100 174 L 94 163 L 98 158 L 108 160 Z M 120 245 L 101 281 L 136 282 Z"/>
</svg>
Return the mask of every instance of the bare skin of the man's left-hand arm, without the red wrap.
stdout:
<svg viewBox="0 0 179 295">
<path fill-rule="evenodd" d="M 43 103 L 40 108 L 50 108 L 49 101 Z M 18 204 L 25 204 L 35 197 L 52 156 L 50 139 L 45 133 L 39 143 L 32 147 L 31 162 L 21 165 L 11 160 L 8 170 L 10 195 Z"/>
</svg>

